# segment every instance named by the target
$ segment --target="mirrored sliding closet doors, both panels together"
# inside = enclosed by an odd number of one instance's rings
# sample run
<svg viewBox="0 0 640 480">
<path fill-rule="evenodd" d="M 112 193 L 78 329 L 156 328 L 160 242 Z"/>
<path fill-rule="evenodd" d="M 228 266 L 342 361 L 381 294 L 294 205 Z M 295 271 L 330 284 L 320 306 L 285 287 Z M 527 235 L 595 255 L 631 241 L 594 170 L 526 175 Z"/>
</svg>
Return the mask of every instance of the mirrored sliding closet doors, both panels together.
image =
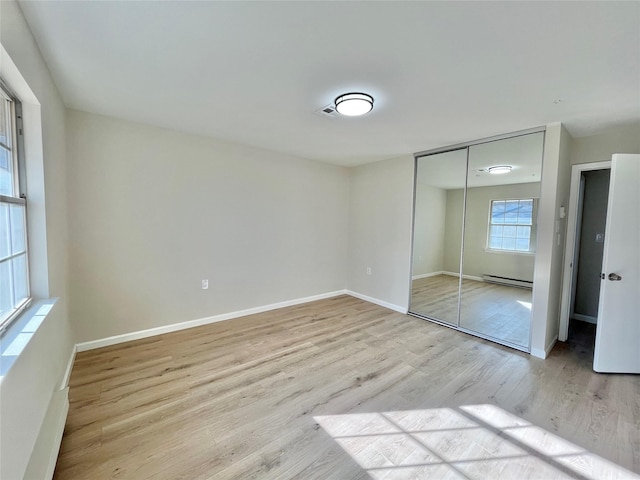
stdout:
<svg viewBox="0 0 640 480">
<path fill-rule="evenodd" d="M 410 313 L 529 350 L 543 146 L 538 131 L 416 155 Z"/>
</svg>

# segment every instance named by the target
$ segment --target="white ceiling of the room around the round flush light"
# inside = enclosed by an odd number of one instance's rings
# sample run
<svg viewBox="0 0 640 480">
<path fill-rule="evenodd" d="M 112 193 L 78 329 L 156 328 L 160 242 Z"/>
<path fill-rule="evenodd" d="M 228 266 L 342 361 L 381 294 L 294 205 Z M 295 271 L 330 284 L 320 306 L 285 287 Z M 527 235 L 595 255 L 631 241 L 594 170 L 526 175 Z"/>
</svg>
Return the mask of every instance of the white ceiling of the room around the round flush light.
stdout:
<svg viewBox="0 0 640 480">
<path fill-rule="evenodd" d="M 68 107 L 338 165 L 640 120 L 638 1 L 20 5 Z"/>
</svg>

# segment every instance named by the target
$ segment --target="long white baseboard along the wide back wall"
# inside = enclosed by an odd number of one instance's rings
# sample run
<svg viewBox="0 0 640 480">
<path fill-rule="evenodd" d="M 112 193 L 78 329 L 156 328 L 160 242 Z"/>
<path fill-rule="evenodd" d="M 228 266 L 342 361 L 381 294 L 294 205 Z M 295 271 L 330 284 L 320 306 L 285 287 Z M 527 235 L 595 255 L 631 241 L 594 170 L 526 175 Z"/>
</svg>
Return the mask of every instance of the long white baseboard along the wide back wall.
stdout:
<svg viewBox="0 0 640 480">
<path fill-rule="evenodd" d="M 163 325 L 162 327 L 149 328 L 147 330 L 139 330 L 137 332 L 124 333 L 122 335 L 114 335 L 113 337 L 101 338 L 98 340 L 90 340 L 88 342 L 81 342 L 76 345 L 78 352 L 85 352 L 87 350 L 93 350 L 96 348 L 108 347 L 110 345 L 116 345 L 118 343 L 130 342 L 132 340 L 140 340 L 141 338 L 153 337 L 155 335 L 161 335 L 163 333 L 177 332 L 179 330 L 186 330 L 187 328 L 200 327 L 202 325 L 208 325 L 210 323 L 222 322 L 224 320 L 231 320 L 233 318 L 244 317 L 246 315 L 253 315 L 256 313 L 268 312 L 270 310 L 276 310 L 278 308 L 291 307 L 294 305 L 300 305 L 302 303 L 315 302 L 316 300 L 324 300 L 325 298 L 337 297 L 338 295 L 346 295 L 349 292 L 346 290 L 337 290 L 335 292 L 322 293 L 320 295 L 312 295 L 310 297 L 296 298 L 294 300 L 287 300 L 284 302 L 272 303 L 270 305 L 263 305 L 261 307 L 248 308 L 246 310 L 238 310 L 235 312 L 222 313 L 220 315 L 213 315 L 211 317 L 198 318 L 196 320 L 188 320 L 186 322 L 173 323 L 171 325 Z"/>
</svg>

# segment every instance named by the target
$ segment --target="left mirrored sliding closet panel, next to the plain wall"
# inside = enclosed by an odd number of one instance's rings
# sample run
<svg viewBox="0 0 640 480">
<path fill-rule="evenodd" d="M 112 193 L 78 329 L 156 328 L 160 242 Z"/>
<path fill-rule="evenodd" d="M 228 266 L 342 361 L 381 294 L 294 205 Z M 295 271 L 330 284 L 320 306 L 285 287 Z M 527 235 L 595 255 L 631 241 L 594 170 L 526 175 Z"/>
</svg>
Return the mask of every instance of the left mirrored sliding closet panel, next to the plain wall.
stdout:
<svg viewBox="0 0 640 480">
<path fill-rule="evenodd" d="M 467 177 L 467 149 L 416 159 L 413 273 L 410 311 L 458 325 L 460 249 L 446 248 L 447 239 L 462 238 Z"/>
</svg>

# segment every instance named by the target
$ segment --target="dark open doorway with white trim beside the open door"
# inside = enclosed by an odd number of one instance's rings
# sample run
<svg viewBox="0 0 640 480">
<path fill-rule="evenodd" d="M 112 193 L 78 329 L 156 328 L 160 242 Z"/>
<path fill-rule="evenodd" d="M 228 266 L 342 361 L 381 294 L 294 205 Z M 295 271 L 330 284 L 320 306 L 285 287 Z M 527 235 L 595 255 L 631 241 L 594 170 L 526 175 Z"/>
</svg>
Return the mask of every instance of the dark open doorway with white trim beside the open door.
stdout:
<svg viewBox="0 0 640 480">
<path fill-rule="evenodd" d="M 559 340 L 593 351 L 611 162 L 574 165 Z"/>
</svg>

